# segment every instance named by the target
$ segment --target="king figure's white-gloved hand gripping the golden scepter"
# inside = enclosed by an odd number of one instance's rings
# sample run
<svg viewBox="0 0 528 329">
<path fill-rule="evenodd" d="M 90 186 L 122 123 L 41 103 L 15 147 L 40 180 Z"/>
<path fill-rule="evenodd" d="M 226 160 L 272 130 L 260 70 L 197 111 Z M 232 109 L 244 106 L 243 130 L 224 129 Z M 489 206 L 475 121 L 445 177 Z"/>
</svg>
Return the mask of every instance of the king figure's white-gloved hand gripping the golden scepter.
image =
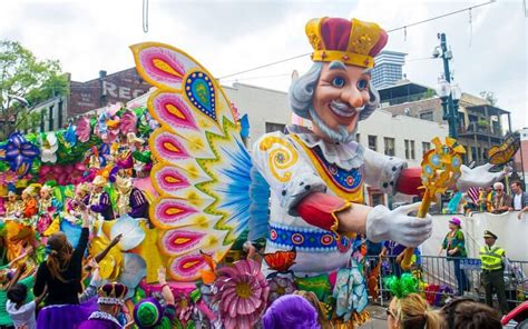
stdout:
<svg viewBox="0 0 528 329">
<path fill-rule="evenodd" d="M 402 206 L 394 210 L 384 206 L 374 207 L 366 216 L 366 239 L 372 242 L 391 240 L 405 247 L 421 245 L 431 237 L 432 217 L 429 213 L 426 218 L 409 216 L 420 205 Z"/>
</svg>

